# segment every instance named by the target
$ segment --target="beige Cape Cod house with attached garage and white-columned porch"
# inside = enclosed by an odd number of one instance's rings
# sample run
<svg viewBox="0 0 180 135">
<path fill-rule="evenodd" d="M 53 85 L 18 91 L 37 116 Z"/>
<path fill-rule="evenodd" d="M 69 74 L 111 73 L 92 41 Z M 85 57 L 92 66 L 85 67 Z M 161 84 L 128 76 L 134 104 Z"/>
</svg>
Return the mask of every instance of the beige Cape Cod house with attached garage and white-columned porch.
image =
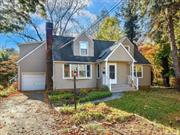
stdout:
<svg viewBox="0 0 180 135">
<path fill-rule="evenodd" d="M 46 41 L 19 45 L 20 90 L 45 89 L 48 47 L 52 48 L 53 90 L 73 89 L 74 71 L 77 88 L 107 85 L 116 92 L 151 85 L 151 65 L 127 37 L 114 42 L 96 40 L 87 34 L 55 36 L 52 30 L 52 25 L 46 24 Z"/>
</svg>

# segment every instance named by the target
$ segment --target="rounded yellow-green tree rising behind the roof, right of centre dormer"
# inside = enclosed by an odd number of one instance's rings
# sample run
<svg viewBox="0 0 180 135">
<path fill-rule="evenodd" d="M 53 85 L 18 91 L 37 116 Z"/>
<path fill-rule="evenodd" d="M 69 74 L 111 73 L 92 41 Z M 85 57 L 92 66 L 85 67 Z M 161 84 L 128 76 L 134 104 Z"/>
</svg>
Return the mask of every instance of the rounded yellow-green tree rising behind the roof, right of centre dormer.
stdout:
<svg viewBox="0 0 180 135">
<path fill-rule="evenodd" d="M 106 17 L 99 26 L 97 39 L 117 41 L 121 35 L 117 17 Z"/>
</svg>

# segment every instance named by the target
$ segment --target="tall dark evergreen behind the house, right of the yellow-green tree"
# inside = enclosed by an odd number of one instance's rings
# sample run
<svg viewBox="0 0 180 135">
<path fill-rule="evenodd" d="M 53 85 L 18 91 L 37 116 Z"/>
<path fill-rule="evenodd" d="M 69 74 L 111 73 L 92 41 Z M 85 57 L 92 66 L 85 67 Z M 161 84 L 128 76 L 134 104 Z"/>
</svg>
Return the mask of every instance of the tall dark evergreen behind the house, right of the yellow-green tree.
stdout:
<svg viewBox="0 0 180 135">
<path fill-rule="evenodd" d="M 124 20 L 124 33 L 131 42 L 137 41 L 139 35 L 139 17 L 136 11 L 137 9 L 133 8 L 134 6 L 132 2 L 132 0 L 124 2 L 116 13 L 120 19 L 122 18 Z"/>
</svg>

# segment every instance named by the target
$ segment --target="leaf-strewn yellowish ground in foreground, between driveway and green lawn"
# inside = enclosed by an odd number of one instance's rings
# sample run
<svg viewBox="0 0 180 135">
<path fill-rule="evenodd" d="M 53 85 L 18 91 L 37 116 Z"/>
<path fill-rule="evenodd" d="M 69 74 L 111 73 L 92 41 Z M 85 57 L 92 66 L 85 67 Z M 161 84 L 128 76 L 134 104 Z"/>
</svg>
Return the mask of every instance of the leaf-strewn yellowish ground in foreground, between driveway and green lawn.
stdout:
<svg viewBox="0 0 180 135">
<path fill-rule="evenodd" d="M 63 135 L 178 135 L 178 131 L 150 122 L 104 103 L 57 107 Z"/>
</svg>

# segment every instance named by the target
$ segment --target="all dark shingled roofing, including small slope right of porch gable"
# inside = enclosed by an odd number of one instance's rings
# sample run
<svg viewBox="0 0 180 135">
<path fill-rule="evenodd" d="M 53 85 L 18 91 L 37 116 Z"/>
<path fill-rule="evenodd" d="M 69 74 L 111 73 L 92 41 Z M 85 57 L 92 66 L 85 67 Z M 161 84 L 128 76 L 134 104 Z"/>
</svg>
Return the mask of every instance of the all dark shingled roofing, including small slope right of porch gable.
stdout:
<svg viewBox="0 0 180 135">
<path fill-rule="evenodd" d="M 94 56 L 74 56 L 72 49 L 74 39 L 74 37 L 53 36 L 52 54 L 54 61 L 96 62 L 97 60 L 105 60 L 117 46 L 114 41 L 93 39 Z M 71 40 L 72 42 L 62 47 Z M 134 47 L 134 59 L 137 64 L 150 64 L 149 61 L 138 51 L 136 46 Z"/>
</svg>

